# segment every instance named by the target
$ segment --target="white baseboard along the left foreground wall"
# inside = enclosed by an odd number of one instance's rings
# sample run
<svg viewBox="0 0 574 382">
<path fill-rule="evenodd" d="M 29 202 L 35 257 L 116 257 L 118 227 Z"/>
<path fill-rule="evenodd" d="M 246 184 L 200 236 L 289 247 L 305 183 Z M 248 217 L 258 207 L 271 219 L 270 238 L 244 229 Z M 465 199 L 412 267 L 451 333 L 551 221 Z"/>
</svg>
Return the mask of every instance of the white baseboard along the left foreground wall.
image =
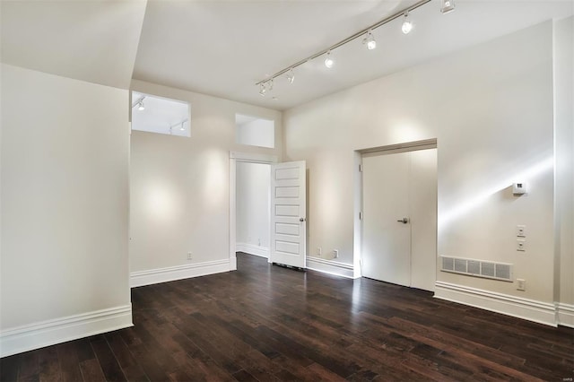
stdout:
<svg viewBox="0 0 574 382">
<path fill-rule="evenodd" d="M 0 333 L 0 357 L 129 326 L 134 326 L 131 304 L 18 326 Z"/>
</svg>

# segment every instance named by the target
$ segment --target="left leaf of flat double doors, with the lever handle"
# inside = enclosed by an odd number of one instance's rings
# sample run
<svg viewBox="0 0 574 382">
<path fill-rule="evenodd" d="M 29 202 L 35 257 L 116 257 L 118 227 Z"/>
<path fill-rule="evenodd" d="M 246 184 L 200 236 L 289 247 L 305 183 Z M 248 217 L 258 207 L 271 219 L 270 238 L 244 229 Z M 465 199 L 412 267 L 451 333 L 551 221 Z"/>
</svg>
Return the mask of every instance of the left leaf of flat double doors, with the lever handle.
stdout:
<svg viewBox="0 0 574 382">
<path fill-rule="evenodd" d="M 362 275 L 411 285 L 410 154 L 363 156 Z"/>
</svg>

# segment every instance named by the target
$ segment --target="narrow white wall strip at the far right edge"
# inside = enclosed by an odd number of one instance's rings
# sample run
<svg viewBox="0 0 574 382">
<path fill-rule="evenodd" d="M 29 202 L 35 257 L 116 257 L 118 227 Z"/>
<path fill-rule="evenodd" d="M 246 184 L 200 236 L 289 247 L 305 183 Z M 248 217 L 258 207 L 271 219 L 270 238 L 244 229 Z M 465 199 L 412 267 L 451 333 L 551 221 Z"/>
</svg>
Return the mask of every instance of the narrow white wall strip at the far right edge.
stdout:
<svg viewBox="0 0 574 382">
<path fill-rule="evenodd" d="M 574 17 L 554 23 L 557 300 L 574 308 Z M 570 315 L 574 326 L 574 310 Z"/>
</svg>

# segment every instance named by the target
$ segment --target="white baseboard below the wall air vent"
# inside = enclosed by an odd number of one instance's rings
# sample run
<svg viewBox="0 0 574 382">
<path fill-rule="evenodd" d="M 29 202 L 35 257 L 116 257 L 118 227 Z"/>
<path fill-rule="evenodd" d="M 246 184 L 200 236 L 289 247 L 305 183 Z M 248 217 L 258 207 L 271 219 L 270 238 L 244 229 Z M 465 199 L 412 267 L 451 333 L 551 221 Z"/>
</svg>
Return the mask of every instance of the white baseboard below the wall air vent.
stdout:
<svg viewBox="0 0 574 382">
<path fill-rule="evenodd" d="M 491 310 L 507 316 L 524 318 L 548 326 L 557 326 L 556 308 L 554 304 L 548 302 L 522 299 L 450 282 L 435 282 L 434 297 Z"/>
</svg>

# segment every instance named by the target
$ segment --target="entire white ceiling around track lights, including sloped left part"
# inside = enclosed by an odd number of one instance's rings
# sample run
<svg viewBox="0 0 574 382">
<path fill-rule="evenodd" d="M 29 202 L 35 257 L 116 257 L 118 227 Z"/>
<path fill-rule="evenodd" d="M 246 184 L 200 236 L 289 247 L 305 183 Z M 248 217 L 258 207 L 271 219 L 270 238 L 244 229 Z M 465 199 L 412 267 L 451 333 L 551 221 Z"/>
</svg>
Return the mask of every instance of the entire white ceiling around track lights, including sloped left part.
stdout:
<svg viewBox="0 0 574 382">
<path fill-rule="evenodd" d="M 255 82 L 328 48 L 413 0 L 115 0 L 2 1 L 2 60 L 118 87 L 130 78 L 272 109 L 370 81 L 515 30 L 574 13 L 571 0 L 439 0 L 334 51 L 335 67 L 317 58 L 274 82 L 262 98 Z M 143 12 L 145 16 L 143 18 Z M 135 56 L 136 49 L 136 56 Z M 133 73 L 132 73 L 133 68 Z M 275 97 L 277 100 L 273 100 Z"/>
</svg>

